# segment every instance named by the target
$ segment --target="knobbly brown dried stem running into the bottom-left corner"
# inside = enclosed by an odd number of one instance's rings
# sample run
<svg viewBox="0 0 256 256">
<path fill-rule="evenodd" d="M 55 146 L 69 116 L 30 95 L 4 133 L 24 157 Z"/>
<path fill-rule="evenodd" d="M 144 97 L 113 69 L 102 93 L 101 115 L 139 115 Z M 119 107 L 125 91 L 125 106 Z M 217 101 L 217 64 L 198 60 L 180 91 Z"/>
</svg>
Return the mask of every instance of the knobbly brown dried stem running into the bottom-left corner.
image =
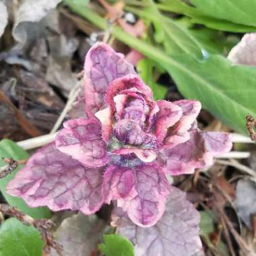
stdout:
<svg viewBox="0 0 256 256">
<path fill-rule="evenodd" d="M 26 226 L 34 226 L 34 228 L 40 232 L 42 240 L 44 241 L 44 253 L 50 253 L 51 248 L 53 248 L 55 251 L 57 251 L 58 255 L 63 255 L 61 245 L 54 241 L 53 235 L 49 231 L 55 225 L 51 220 L 34 220 L 32 217 L 19 211 L 17 208 L 5 203 L 0 203 L 0 212 L 3 215 L 11 216 L 17 220 L 20 220 L 20 222 Z"/>
</svg>

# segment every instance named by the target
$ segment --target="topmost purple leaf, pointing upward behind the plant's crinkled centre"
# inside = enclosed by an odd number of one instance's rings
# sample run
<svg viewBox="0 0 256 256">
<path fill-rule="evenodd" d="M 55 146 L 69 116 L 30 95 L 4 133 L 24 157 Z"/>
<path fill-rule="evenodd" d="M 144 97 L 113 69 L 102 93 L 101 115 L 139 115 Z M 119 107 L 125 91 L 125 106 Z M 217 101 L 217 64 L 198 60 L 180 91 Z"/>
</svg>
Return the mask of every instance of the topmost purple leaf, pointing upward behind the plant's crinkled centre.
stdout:
<svg viewBox="0 0 256 256">
<path fill-rule="evenodd" d="M 97 43 L 86 55 L 84 63 L 86 113 L 94 113 L 105 105 L 104 96 L 113 80 L 127 74 L 135 74 L 133 66 L 125 61 L 121 53 L 116 53 L 110 46 Z"/>
</svg>

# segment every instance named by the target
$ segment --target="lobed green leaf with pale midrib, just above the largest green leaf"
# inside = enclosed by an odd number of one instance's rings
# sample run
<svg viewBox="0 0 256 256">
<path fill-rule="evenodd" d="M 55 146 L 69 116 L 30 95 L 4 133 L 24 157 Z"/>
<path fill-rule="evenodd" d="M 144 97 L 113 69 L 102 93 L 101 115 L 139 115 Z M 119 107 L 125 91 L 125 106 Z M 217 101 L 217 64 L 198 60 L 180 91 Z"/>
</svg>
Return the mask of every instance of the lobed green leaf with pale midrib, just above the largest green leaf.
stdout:
<svg viewBox="0 0 256 256">
<path fill-rule="evenodd" d="M 152 15 L 154 8 L 142 11 L 131 7 L 127 9 L 154 24 L 154 38 L 156 42 L 164 45 L 168 54 L 189 53 L 199 58 L 205 57 L 202 53 L 205 55 L 206 52 L 227 54 L 238 43 L 238 38 L 226 36 L 224 32 L 210 28 L 193 28 L 193 22 L 188 17 L 174 20 L 164 17 L 156 10 L 156 15 Z"/>
</svg>

